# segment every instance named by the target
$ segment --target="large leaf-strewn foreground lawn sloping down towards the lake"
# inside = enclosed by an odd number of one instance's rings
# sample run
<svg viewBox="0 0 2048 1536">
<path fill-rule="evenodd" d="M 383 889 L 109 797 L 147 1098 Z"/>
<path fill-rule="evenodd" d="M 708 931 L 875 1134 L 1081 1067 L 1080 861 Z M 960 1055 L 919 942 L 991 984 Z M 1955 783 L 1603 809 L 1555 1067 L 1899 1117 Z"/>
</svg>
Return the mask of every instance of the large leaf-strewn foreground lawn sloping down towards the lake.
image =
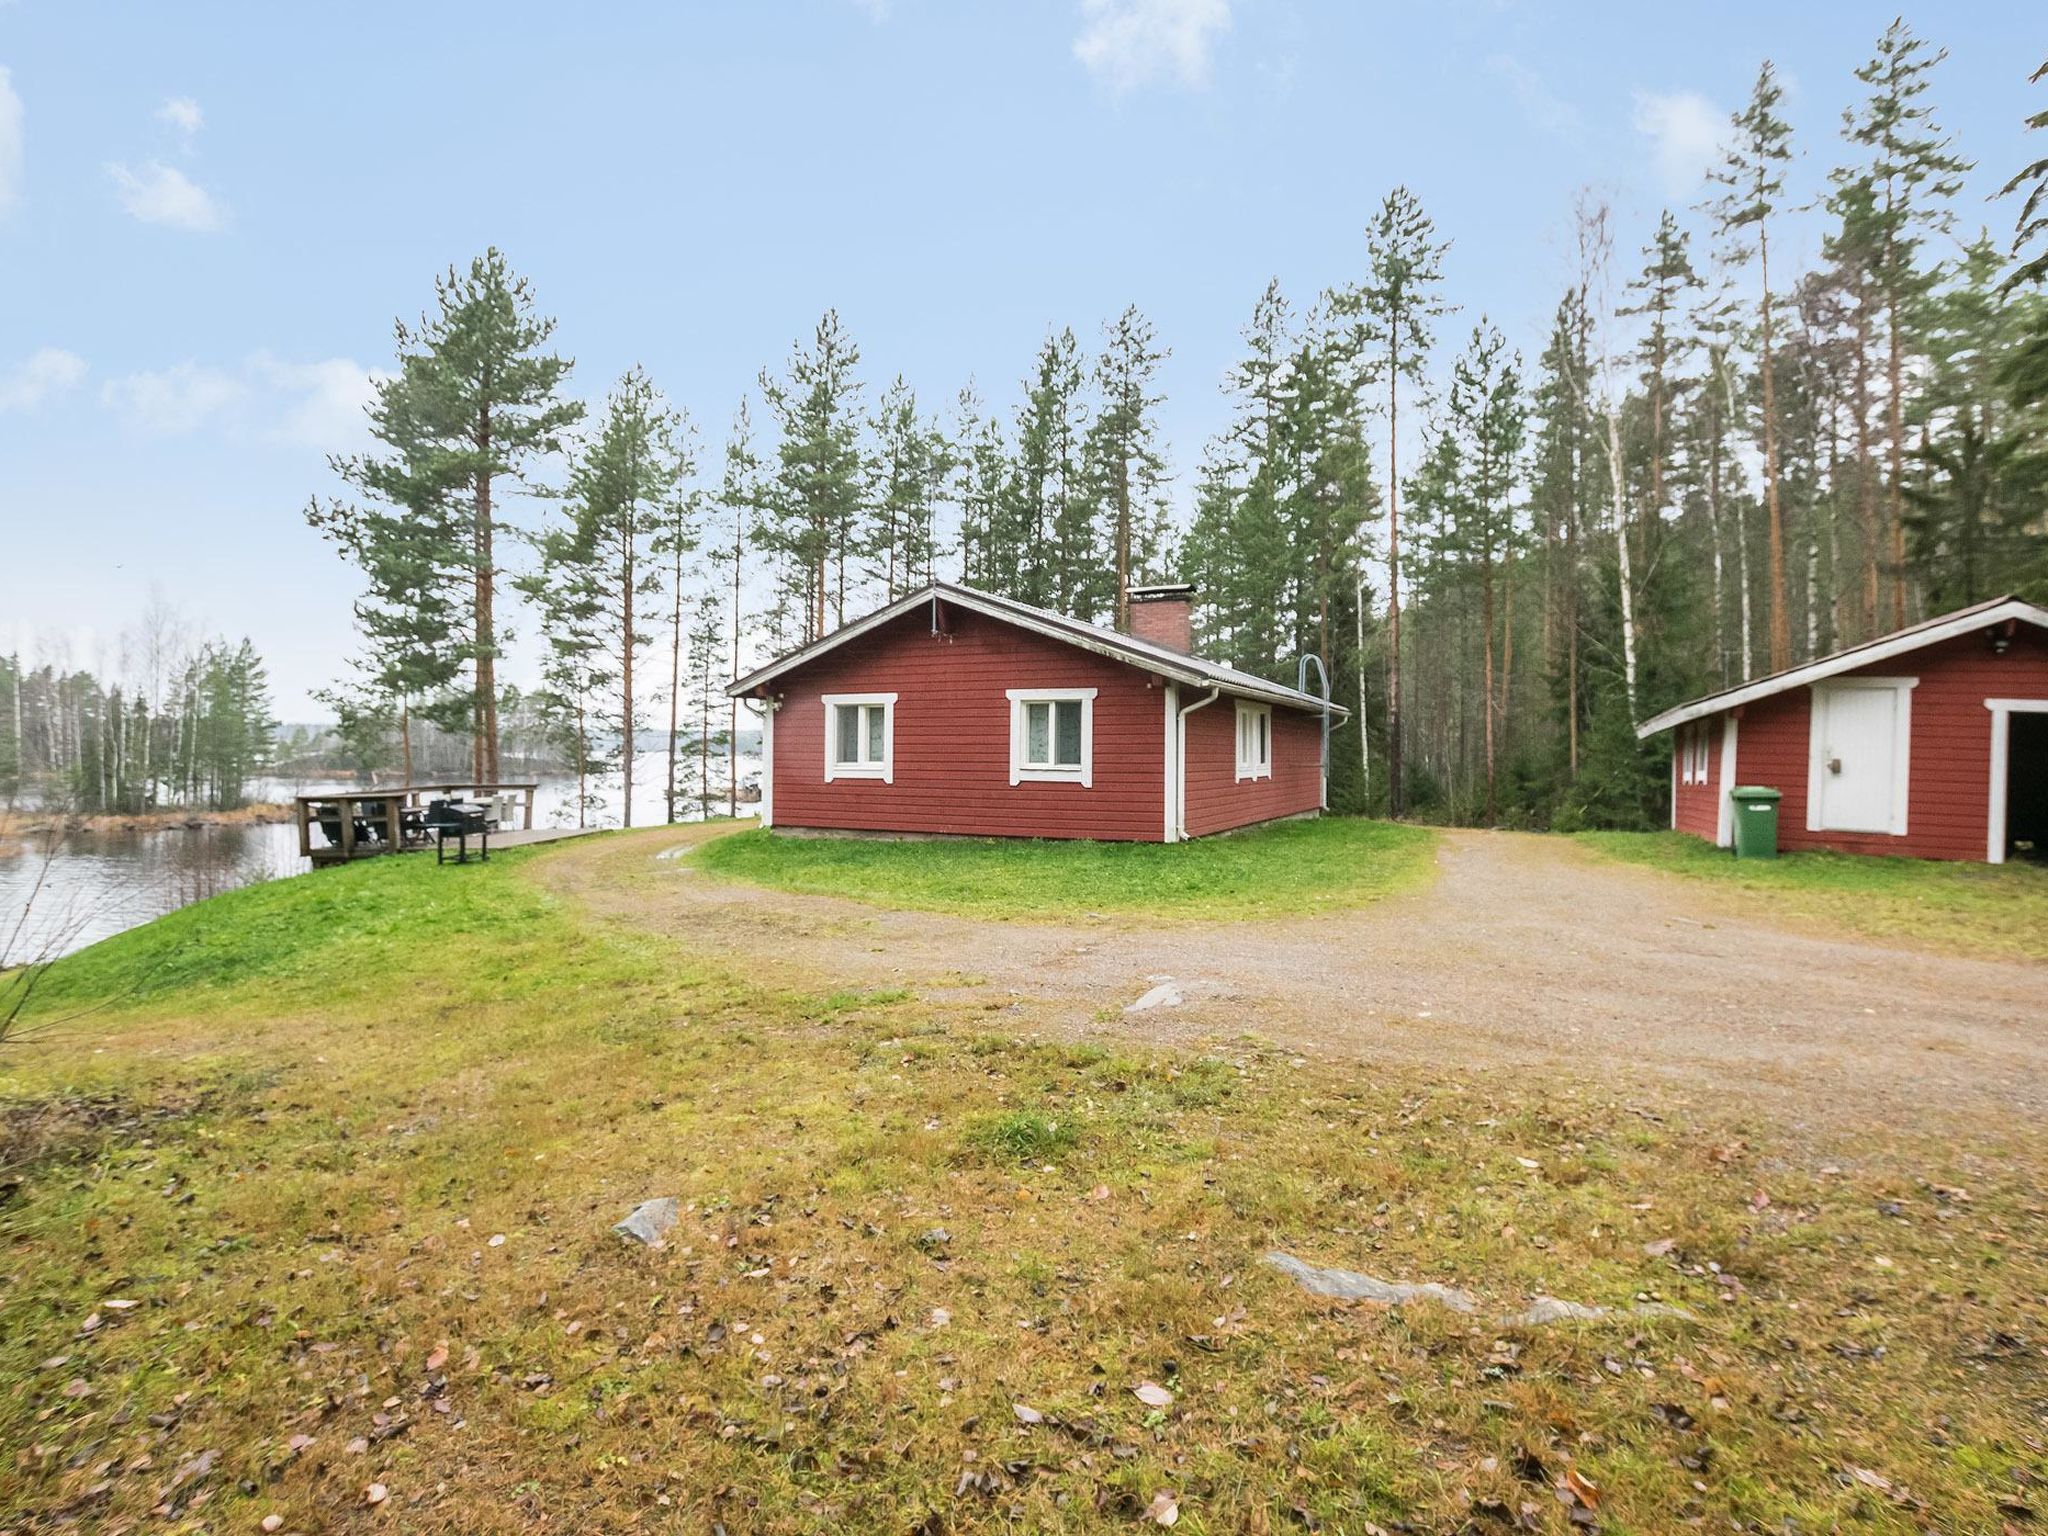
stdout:
<svg viewBox="0 0 2048 1536">
<path fill-rule="evenodd" d="M 1081 1530 L 1171 1489 L 1192 1532 L 1563 1530 L 1569 1462 L 1606 1530 L 1995 1530 L 2048 1477 L 2032 1143 L 1835 1174 L 1591 1083 L 778 995 L 526 858 L 242 891 L 57 973 L 135 991 L 0 1063 L 8 1526 Z M 608 1233 L 649 1194 L 666 1251 Z M 1698 1321 L 1352 1309 L 1270 1245 Z"/>
</svg>

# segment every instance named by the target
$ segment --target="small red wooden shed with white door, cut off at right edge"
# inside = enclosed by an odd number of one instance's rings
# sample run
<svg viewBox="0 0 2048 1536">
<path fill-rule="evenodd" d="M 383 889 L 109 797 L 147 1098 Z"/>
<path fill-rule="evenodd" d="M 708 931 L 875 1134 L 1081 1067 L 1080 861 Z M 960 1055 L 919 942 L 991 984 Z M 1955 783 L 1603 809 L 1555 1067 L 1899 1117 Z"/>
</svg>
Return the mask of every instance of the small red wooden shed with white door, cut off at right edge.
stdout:
<svg viewBox="0 0 2048 1536">
<path fill-rule="evenodd" d="M 1722 848 L 1767 784 L 1780 848 L 2048 856 L 2048 608 L 1995 598 L 1669 709 L 1671 825 Z"/>
</svg>

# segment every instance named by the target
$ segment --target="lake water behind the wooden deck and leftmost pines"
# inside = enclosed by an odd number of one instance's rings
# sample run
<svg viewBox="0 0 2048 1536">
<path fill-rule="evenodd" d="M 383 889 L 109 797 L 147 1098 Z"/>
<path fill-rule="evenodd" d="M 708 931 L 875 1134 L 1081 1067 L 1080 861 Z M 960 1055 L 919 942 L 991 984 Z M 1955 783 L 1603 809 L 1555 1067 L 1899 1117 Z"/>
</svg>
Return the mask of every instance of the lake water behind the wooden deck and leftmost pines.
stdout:
<svg viewBox="0 0 2048 1536">
<path fill-rule="evenodd" d="M 741 782 L 760 772 L 739 760 Z M 633 825 L 668 819 L 662 786 L 668 754 L 643 752 L 633 764 Z M 250 799 L 291 801 L 334 784 L 260 780 Z M 610 803 L 590 825 L 616 827 L 618 780 L 600 782 Z M 723 805 L 713 807 L 721 811 Z M 741 815 L 748 805 L 741 803 Z M 575 780 L 547 778 L 535 793 L 537 827 L 575 825 Z M 686 817 L 694 819 L 694 817 Z M 295 825 L 176 827 L 164 831 L 76 831 L 43 860 L 39 848 L 0 856 L 0 965 L 45 954 L 70 954 L 125 928 L 135 928 L 193 901 L 254 881 L 305 874 Z"/>
</svg>

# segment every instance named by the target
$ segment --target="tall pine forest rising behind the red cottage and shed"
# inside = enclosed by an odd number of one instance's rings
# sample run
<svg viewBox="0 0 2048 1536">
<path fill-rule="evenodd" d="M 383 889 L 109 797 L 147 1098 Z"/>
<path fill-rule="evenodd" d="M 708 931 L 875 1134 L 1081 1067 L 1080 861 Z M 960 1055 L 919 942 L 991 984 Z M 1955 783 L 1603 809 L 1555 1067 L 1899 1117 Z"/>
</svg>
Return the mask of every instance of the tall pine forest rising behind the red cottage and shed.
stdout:
<svg viewBox="0 0 2048 1536">
<path fill-rule="evenodd" d="M 934 573 L 1100 623 L 1178 575 L 1217 659 L 1323 662 L 1356 711 L 1339 809 L 1655 823 L 1657 709 L 2048 592 L 2048 160 L 2011 176 L 2005 236 L 1972 225 L 1942 59 L 1894 23 L 1825 145 L 1794 141 L 1765 61 L 1698 207 L 1624 240 L 1581 197 L 1534 336 L 1460 311 L 1448 236 L 1395 188 L 1350 281 L 1251 305 L 1184 526 L 1137 307 L 1055 328 L 1008 408 L 874 391 L 827 313 L 707 453 L 639 369 L 573 399 L 555 322 L 487 252 L 399 328 L 379 446 L 309 508 L 365 584 L 336 707 L 365 754 L 406 764 L 432 721 L 494 778 L 524 600 L 563 752 L 631 774 L 604 743 L 666 729 L 680 813 L 733 793 L 721 690 L 762 649 Z M 1823 227 L 1806 266 L 1794 221 Z M 518 487 L 541 494 L 514 518 Z"/>
</svg>

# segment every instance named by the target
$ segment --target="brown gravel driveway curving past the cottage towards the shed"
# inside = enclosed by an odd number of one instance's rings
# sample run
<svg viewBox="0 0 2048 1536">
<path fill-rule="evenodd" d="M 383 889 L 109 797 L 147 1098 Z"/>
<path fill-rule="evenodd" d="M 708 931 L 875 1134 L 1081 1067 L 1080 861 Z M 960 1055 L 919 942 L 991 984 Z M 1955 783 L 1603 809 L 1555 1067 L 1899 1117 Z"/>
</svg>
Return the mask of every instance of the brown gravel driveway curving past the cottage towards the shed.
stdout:
<svg viewBox="0 0 2048 1536">
<path fill-rule="evenodd" d="M 1837 1130 L 2048 1102 L 2048 969 L 1794 932 L 1554 838 L 1452 831 L 1413 895 L 1296 924 L 1020 924 L 709 881 L 700 831 L 571 846 L 541 877 L 793 985 L 909 987 L 1008 1028 L 1257 1034 L 1360 1059 L 1659 1081 Z M 684 844 L 684 846 L 678 846 Z M 655 877 L 645 872 L 653 854 Z M 1178 1004 L 1124 1012 L 1157 983 Z"/>
</svg>

